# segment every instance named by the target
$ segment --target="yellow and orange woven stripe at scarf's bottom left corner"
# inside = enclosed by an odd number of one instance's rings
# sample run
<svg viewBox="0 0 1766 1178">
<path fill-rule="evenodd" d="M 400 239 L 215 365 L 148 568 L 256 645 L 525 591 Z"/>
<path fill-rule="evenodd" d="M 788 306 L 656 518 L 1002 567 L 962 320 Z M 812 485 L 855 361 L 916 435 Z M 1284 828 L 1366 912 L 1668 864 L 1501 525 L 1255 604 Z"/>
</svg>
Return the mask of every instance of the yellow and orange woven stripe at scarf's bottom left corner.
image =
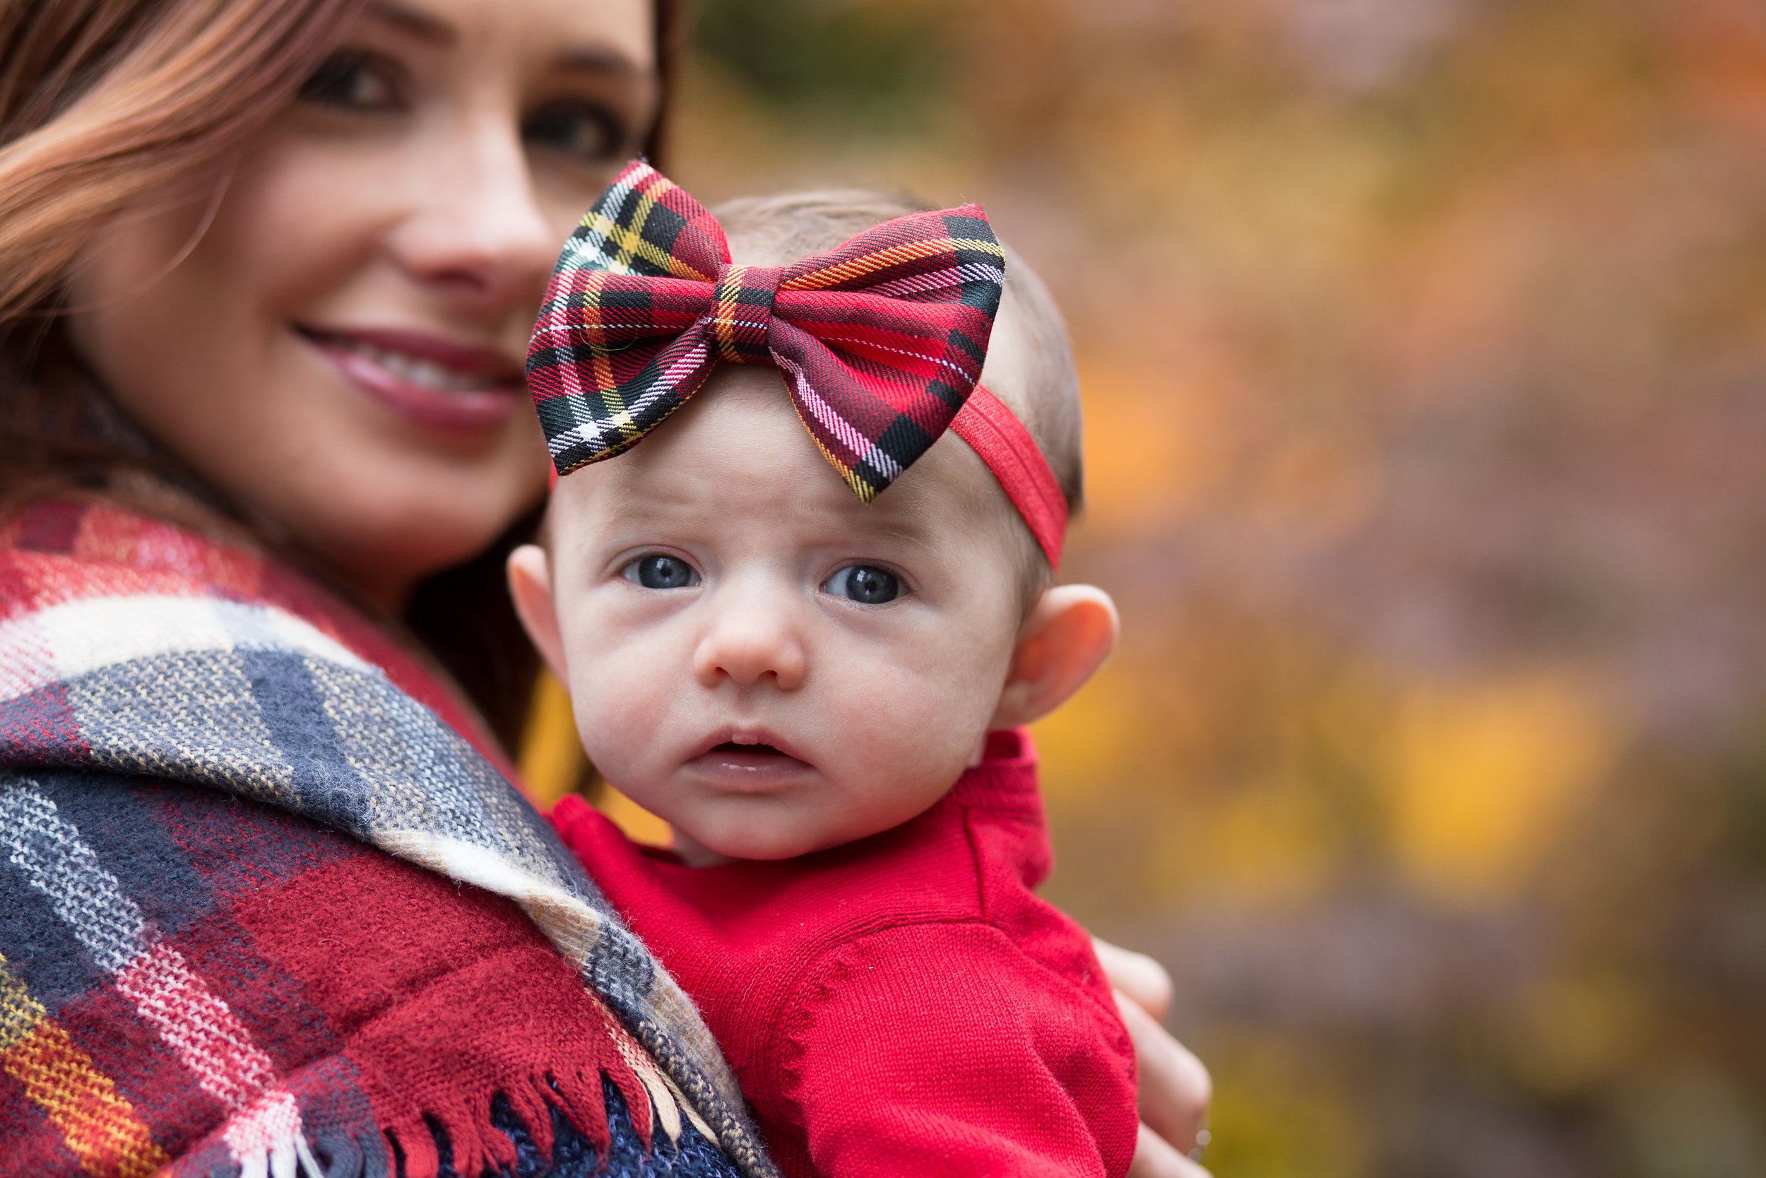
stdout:
<svg viewBox="0 0 1766 1178">
<path fill-rule="evenodd" d="M 92 1056 L 48 1017 L 0 957 L 0 1067 L 62 1134 L 94 1178 L 148 1178 L 171 1157 Z"/>
</svg>

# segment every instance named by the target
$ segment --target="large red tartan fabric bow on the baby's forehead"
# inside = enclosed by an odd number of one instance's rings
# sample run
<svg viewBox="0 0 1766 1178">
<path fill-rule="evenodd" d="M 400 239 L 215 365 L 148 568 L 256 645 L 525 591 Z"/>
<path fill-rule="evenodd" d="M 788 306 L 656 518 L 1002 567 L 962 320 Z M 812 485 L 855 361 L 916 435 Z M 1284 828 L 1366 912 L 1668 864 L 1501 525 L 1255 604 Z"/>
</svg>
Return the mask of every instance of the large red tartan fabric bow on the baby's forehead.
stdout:
<svg viewBox="0 0 1766 1178">
<path fill-rule="evenodd" d="M 982 373 L 1005 251 L 980 205 L 897 217 L 788 267 L 738 267 L 717 219 L 632 161 L 570 235 L 528 348 L 560 475 L 625 450 L 728 364 L 775 364 L 871 500 Z"/>
</svg>

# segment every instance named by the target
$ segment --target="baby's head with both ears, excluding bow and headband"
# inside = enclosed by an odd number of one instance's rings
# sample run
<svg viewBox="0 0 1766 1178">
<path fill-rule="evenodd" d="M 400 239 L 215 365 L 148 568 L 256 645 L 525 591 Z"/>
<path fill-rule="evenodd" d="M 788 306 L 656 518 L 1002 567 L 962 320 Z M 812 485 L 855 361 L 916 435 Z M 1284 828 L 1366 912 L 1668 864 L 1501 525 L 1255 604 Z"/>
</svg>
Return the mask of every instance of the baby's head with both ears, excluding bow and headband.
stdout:
<svg viewBox="0 0 1766 1178">
<path fill-rule="evenodd" d="M 717 210 L 740 265 L 786 265 L 917 212 L 874 193 Z M 1079 387 L 1015 256 L 982 381 L 1079 505 Z M 570 687 L 595 766 L 689 862 L 786 858 L 931 807 L 985 733 L 1026 724 L 1109 653 L 1100 590 L 1054 585 L 1000 482 L 947 431 L 860 502 L 782 374 L 719 366 L 641 445 L 562 479 L 510 590 Z"/>
</svg>

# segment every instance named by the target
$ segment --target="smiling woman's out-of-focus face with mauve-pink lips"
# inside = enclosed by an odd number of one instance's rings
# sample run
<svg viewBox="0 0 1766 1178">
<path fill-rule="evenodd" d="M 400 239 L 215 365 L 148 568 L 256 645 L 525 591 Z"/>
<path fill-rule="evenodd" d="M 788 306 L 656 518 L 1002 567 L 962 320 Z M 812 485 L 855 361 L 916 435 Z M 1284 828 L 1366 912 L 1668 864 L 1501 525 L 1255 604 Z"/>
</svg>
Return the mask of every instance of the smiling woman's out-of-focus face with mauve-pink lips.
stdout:
<svg viewBox="0 0 1766 1178">
<path fill-rule="evenodd" d="M 371 2 L 230 171 L 94 242 L 74 344 L 210 484 L 397 608 L 544 493 L 528 332 L 655 108 L 648 0 Z"/>
</svg>

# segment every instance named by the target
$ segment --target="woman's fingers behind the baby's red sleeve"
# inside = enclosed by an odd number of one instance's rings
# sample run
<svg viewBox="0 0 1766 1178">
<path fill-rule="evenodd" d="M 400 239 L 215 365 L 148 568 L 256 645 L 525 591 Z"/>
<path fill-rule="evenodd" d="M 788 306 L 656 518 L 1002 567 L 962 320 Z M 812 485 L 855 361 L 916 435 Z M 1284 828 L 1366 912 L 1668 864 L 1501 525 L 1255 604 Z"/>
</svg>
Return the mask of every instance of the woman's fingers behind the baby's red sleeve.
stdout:
<svg viewBox="0 0 1766 1178">
<path fill-rule="evenodd" d="M 1116 1008 L 1141 1065 L 1141 1137 L 1128 1178 L 1199 1178 L 1208 1171 L 1189 1152 L 1208 1123 L 1213 1083 L 1203 1061 L 1162 1026 L 1171 1007 L 1171 975 L 1144 954 L 1097 938 L 1091 945 L 1116 991 Z"/>
</svg>

